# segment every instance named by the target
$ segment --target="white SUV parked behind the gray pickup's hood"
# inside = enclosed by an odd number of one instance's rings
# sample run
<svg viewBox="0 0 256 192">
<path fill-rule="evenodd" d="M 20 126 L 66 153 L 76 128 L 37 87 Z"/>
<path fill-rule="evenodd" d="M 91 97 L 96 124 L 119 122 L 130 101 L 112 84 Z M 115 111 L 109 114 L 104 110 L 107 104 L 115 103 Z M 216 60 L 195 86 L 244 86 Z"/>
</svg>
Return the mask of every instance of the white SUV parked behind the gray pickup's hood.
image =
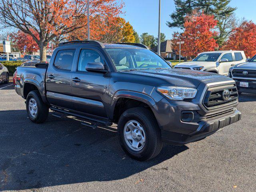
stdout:
<svg viewBox="0 0 256 192">
<path fill-rule="evenodd" d="M 174 68 L 207 71 L 228 75 L 230 67 L 246 61 L 243 51 L 211 51 L 200 53 L 194 60 L 177 64 Z"/>
</svg>

